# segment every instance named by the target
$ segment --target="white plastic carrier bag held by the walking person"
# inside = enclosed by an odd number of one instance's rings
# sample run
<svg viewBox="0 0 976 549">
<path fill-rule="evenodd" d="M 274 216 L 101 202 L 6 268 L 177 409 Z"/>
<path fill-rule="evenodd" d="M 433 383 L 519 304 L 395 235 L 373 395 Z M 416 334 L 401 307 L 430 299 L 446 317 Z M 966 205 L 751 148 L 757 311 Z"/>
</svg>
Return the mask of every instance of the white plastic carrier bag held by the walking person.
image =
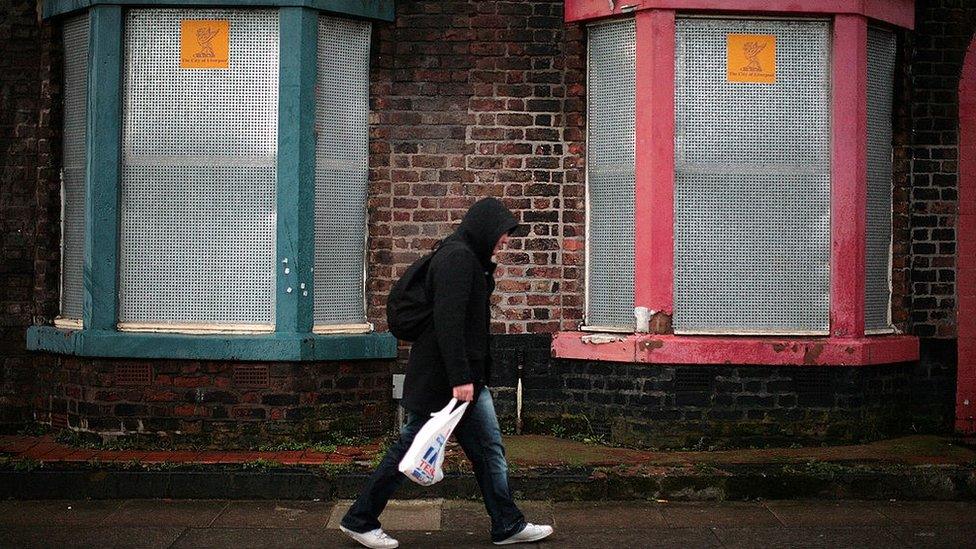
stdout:
<svg viewBox="0 0 976 549">
<path fill-rule="evenodd" d="M 436 484 L 444 478 L 444 446 L 468 409 L 467 402 L 454 408 L 457 402 L 452 398 L 441 411 L 430 415 L 400 460 L 400 472 L 421 486 Z"/>
</svg>

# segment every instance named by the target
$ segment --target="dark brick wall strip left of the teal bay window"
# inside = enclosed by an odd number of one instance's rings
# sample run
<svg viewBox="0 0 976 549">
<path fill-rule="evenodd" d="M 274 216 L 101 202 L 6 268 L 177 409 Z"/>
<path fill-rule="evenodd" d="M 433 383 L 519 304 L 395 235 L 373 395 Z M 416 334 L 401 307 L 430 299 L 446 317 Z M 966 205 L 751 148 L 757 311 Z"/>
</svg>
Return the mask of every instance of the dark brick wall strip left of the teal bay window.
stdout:
<svg viewBox="0 0 976 549">
<path fill-rule="evenodd" d="M 0 430 L 32 416 L 24 350 L 58 308 L 60 39 L 34 0 L 0 0 Z"/>
</svg>

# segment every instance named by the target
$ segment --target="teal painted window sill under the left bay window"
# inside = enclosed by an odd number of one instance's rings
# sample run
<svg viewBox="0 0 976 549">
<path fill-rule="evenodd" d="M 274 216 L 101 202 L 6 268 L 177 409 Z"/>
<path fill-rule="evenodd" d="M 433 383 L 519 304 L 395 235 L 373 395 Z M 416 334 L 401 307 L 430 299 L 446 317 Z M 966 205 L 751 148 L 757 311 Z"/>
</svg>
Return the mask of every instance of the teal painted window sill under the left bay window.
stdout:
<svg viewBox="0 0 976 549">
<path fill-rule="evenodd" d="M 191 360 L 393 359 L 391 334 L 172 334 L 31 326 L 27 348 L 63 355 Z"/>
</svg>

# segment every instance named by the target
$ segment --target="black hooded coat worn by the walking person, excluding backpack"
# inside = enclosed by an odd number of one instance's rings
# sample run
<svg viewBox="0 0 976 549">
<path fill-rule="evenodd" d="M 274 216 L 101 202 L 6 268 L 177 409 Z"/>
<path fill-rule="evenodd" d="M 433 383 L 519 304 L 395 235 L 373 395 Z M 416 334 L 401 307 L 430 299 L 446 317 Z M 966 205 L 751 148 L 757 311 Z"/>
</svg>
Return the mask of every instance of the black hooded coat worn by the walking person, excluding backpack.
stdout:
<svg viewBox="0 0 976 549">
<path fill-rule="evenodd" d="M 403 407 L 426 414 L 451 399 L 452 388 L 473 383 L 475 398 L 491 381 L 489 298 L 495 289 L 491 256 L 518 222 L 494 198 L 476 202 L 430 261 L 426 284 L 433 321 L 410 350 Z"/>
</svg>

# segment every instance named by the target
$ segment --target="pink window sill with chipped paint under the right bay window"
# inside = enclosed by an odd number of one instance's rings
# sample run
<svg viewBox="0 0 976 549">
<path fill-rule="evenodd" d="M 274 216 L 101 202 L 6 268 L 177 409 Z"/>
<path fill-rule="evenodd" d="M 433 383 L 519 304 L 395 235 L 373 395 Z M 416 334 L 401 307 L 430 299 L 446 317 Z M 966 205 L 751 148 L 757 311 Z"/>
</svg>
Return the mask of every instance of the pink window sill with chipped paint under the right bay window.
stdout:
<svg viewBox="0 0 976 549">
<path fill-rule="evenodd" d="M 560 332 L 552 356 L 578 360 L 648 364 L 736 364 L 764 366 L 868 366 L 918 360 L 918 338 L 878 335 L 833 337 L 728 337 L 607 334 L 607 343 L 587 343 L 593 334 Z"/>
</svg>

